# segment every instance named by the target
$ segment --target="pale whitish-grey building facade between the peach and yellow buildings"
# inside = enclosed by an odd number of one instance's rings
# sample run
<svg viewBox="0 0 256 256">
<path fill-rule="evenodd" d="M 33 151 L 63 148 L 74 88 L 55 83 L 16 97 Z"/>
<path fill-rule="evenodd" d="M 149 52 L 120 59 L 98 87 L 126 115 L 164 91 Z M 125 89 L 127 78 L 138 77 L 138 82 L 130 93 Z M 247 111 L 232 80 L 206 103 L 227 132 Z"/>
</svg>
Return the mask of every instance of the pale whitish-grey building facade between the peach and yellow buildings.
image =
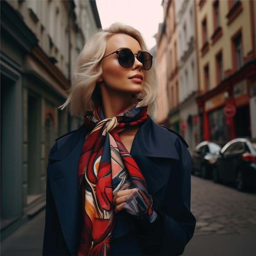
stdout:
<svg viewBox="0 0 256 256">
<path fill-rule="evenodd" d="M 180 133 L 193 149 L 199 143 L 197 58 L 193 1 L 175 2 L 177 61 L 179 69 Z"/>
</svg>

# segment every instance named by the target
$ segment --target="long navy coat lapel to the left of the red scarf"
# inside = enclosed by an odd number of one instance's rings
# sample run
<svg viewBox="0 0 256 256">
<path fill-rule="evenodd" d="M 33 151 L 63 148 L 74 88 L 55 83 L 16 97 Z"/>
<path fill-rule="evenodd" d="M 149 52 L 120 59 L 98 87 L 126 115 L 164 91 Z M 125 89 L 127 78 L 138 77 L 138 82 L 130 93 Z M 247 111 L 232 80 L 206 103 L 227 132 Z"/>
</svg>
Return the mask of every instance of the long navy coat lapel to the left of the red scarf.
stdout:
<svg viewBox="0 0 256 256">
<path fill-rule="evenodd" d="M 49 157 L 47 176 L 56 204 L 61 229 L 72 255 L 80 242 L 81 201 L 78 184 L 78 162 L 85 139 L 85 129 L 57 140 L 57 150 Z"/>
</svg>

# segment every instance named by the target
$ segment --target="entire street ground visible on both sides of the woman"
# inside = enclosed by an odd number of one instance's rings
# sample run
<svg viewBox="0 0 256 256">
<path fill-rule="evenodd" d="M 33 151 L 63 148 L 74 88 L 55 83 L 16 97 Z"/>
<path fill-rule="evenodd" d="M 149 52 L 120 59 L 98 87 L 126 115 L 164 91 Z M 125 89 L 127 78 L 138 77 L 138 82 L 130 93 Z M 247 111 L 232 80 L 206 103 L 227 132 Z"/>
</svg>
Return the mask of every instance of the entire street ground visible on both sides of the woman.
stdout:
<svg viewBox="0 0 256 256">
<path fill-rule="evenodd" d="M 255 193 L 192 176 L 195 234 L 184 256 L 256 255 Z M 42 255 L 45 211 L 1 243 L 1 255 Z"/>
</svg>

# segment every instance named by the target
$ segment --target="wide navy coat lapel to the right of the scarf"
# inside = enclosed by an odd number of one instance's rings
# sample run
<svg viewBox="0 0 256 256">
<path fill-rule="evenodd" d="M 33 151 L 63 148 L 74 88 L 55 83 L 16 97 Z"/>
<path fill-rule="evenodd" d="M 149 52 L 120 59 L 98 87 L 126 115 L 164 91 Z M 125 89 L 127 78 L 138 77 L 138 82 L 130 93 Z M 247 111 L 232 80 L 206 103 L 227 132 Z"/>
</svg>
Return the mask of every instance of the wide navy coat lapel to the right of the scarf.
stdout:
<svg viewBox="0 0 256 256">
<path fill-rule="evenodd" d="M 155 124 L 150 117 L 135 136 L 131 155 L 138 164 L 152 196 L 157 195 L 157 191 L 168 182 L 172 162 L 180 159 L 175 148 L 175 137 L 168 129 Z"/>
</svg>

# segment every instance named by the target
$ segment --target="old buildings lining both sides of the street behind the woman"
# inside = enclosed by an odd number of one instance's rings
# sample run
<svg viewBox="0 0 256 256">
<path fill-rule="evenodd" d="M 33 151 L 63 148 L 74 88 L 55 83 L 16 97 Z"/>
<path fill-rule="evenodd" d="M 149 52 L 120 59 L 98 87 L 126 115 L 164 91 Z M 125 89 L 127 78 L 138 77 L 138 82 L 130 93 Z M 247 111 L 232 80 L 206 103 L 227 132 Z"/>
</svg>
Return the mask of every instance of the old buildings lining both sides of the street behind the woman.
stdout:
<svg viewBox="0 0 256 256">
<path fill-rule="evenodd" d="M 83 120 L 60 111 L 84 43 L 101 28 L 95 0 L 1 4 L 1 240 L 45 206 L 54 140 Z M 192 150 L 256 139 L 256 2 L 163 0 L 153 118 Z"/>
</svg>

